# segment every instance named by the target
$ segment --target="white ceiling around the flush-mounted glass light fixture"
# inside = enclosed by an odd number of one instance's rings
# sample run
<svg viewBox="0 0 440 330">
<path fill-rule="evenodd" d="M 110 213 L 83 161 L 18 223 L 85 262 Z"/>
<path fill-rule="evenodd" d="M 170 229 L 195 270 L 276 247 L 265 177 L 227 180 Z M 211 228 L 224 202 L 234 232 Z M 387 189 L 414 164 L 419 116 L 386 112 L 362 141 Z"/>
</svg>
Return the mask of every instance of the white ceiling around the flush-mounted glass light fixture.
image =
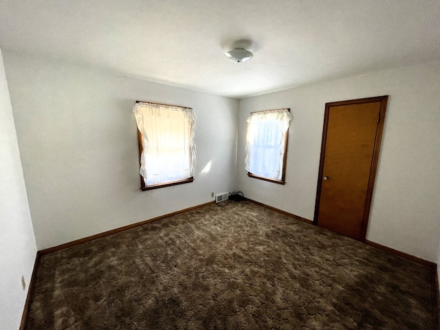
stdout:
<svg viewBox="0 0 440 330">
<path fill-rule="evenodd" d="M 440 1 L 0 0 L 0 47 L 244 98 L 440 59 Z"/>
</svg>

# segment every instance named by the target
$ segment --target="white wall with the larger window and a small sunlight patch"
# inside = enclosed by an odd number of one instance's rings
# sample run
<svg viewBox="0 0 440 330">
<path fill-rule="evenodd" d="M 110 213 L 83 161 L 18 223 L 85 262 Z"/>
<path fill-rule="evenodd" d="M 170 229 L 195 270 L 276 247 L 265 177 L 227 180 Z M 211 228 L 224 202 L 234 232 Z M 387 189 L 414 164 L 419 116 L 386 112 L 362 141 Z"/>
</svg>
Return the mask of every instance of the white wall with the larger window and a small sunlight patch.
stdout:
<svg viewBox="0 0 440 330">
<path fill-rule="evenodd" d="M 39 250 L 235 188 L 237 100 L 16 52 L 4 58 Z M 194 182 L 140 190 L 135 100 L 193 108 Z"/>
</svg>

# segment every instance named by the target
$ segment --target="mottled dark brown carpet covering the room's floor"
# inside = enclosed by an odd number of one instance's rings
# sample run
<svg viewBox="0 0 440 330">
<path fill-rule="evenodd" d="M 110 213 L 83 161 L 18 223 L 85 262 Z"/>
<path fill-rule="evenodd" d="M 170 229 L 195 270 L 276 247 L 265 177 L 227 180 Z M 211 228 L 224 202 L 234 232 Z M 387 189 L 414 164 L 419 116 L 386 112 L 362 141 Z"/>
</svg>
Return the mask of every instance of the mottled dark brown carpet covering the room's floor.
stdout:
<svg viewBox="0 0 440 330">
<path fill-rule="evenodd" d="M 26 329 L 437 329 L 433 271 L 248 201 L 41 257 Z"/>
</svg>

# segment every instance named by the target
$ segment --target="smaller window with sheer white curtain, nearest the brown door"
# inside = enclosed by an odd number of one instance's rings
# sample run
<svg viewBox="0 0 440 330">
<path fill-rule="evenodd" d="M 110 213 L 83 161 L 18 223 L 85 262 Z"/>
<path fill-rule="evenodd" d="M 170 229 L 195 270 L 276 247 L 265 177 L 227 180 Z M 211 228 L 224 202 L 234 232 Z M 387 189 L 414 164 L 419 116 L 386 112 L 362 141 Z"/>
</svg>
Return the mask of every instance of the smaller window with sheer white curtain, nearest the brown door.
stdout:
<svg viewBox="0 0 440 330">
<path fill-rule="evenodd" d="M 245 170 L 256 179 L 285 184 L 289 109 L 253 112 L 248 118 Z"/>
</svg>

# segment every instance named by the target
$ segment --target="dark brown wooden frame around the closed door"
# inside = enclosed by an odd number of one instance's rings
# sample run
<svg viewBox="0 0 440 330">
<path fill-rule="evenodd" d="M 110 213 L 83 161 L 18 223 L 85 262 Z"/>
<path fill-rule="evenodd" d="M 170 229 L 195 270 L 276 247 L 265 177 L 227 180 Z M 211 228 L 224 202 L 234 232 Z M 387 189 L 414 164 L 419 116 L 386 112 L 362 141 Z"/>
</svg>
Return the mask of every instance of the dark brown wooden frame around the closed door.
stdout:
<svg viewBox="0 0 440 330">
<path fill-rule="evenodd" d="M 321 198 L 322 175 L 323 175 L 322 172 L 324 170 L 325 146 L 326 146 L 326 142 L 327 142 L 327 129 L 329 126 L 330 108 L 331 107 L 338 107 L 341 105 L 369 103 L 369 102 L 380 102 L 380 111 L 379 111 L 379 118 L 377 118 L 378 124 L 377 124 L 375 144 L 374 144 L 374 149 L 373 149 L 373 159 L 371 161 L 369 184 L 368 184 L 368 188 L 366 190 L 364 214 L 362 217 L 362 232 L 360 235 L 360 241 L 362 241 L 362 242 L 365 241 L 366 228 L 367 228 L 367 225 L 369 222 L 371 200 L 373 198 L 373 188 L 374 188 L 374 182 L 375 182 L 375 177 L 376 177 L 376 172 L 377 172 L 377 162 L 379 161 L 380 142 L 382 141 L 382 131 L 384 130 L 385 112 L 386 112 L 386 104 L 388 102 L 388 95 L 377 96 L 374 98 L 359 98 L 356 100 L 329 102 L 329 103 L 325 104 L 324 126 L 322 129 L 321 156 L 320 156 L 319 173 L 318 173 L 318 188 L 316 190 L 316 202 L 315 202 L 315 214 L 314 214 L 314 225 L 318 225 L 319 204 L 320 204 L 320 198 Z"/>
</svg>

